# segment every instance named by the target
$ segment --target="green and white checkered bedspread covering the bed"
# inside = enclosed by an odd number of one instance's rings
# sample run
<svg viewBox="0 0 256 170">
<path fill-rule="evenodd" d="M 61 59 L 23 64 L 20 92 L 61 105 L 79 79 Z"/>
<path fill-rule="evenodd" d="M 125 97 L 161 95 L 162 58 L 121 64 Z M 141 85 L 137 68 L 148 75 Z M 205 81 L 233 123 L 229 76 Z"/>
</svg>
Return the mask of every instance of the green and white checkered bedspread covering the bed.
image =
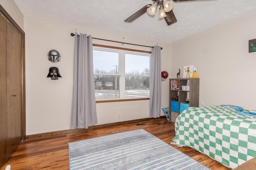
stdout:
<svg viewBox="0 0 256 170">
<path fill-rule="evenodd" d="M 256 117 L 234 108 L 189 107 L 177 117 L 175 132 L 176 145 L 193 147 L 229 168 L 256 156 Z"/>
</svg>

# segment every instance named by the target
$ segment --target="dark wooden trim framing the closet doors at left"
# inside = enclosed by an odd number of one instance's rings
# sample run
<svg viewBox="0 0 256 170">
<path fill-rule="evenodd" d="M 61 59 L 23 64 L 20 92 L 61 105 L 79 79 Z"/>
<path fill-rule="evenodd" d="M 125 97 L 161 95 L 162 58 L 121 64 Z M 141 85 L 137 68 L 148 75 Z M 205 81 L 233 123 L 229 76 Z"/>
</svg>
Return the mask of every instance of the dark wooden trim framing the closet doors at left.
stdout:
<svg viewBox="0 0 256 170">
<path fill-rule="evenodd" d="M 12 24 L 12 26 L 19 31 L 22 36 L 22 140 L 26 140 L 26 91 L 25 91 L 25 32 L 21 29 L 21 27 L 13 20 L 13 18 L 8 14 L 8 12 L 0 5 L 1 14 Z"/>
</svg>

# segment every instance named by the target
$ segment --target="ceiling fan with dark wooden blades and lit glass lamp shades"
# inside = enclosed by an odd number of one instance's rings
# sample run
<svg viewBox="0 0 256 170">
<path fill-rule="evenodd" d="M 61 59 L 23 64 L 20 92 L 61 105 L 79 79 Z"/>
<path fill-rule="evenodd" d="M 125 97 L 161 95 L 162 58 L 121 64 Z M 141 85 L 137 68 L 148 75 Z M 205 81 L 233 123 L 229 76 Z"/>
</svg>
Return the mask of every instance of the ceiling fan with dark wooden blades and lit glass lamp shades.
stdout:
<svg viewBox="0 0 256 170">
<path fill-rule="evenodd" d="M 159 18 L 164 18 L 167 25 L 171 25 L 172 23 L 177 22 L 176 17 L 172 11 L 173 4 L 170 0 L 152 0 L 153 4 L 148 4 L 142 7 L 140 10 L 129 16 L 125 22 L 132 22 L 145 12 L 148 12 L 150 15 L 154 15 L 156 13 L 156 8 L 159 5 Z M 182 2 L 182 1 L 191 1 L 191 0 L 172 0 L 173 2 Z"/>
</svg>

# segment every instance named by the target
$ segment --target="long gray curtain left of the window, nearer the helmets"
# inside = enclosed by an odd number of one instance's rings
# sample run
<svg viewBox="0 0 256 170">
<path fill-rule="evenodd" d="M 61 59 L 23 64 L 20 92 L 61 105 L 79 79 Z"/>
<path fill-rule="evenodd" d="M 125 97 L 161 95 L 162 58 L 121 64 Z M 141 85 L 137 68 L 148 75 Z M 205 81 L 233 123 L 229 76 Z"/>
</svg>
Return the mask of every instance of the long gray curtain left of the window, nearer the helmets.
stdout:
<svg viewBox="0 0 256 170">
<path fill-rule="evenodd" d="M 96 125 L 92 36 L 75 35 L 74 78 L 70 129 Z"/>
</svg>

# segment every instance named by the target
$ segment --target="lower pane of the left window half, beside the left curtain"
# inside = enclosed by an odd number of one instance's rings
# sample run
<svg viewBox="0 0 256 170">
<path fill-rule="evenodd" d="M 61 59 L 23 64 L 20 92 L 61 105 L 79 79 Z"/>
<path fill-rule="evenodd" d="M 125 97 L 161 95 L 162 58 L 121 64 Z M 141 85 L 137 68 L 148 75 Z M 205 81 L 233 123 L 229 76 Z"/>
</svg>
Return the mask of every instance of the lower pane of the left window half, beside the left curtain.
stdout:
<svg viewBox="0 0 256 170">
<path fill-rule="evenodd" d="M 119 78 L 120 76 L 94 75 L 95 98 L 120 98 Z"/>
</svg>

